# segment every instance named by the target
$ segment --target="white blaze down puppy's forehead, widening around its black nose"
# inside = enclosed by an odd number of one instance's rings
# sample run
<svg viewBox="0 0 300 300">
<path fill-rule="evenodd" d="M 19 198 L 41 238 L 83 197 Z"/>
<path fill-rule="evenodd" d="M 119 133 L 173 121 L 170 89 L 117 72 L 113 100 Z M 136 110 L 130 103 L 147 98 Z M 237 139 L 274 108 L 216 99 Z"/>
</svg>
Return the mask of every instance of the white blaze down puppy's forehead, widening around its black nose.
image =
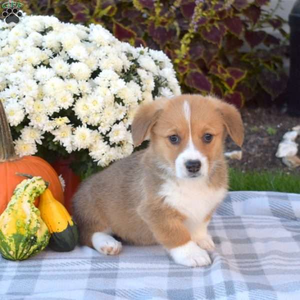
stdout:
<svg viewBox="0 0 300 300">
<path fill-rule="evenodd" d="M 200 174 L 206 176 L 208 173 L 208 162 L 207 157 L 203 155 L 193 144 L 191 138 L 191 122 L 190 122 L 190 105 L 187 100 L 183 102 L 183 112 L 184 117 L 188 123 L 188 142 L 185 149 L 177 156 L 175 160 L 176 176 L 179 178 L 184 178 L 188 176 L 188 171 L 185 167 L 185 162 L 187 160 L 200 160 L 201 168 Z"/>
</svg>

